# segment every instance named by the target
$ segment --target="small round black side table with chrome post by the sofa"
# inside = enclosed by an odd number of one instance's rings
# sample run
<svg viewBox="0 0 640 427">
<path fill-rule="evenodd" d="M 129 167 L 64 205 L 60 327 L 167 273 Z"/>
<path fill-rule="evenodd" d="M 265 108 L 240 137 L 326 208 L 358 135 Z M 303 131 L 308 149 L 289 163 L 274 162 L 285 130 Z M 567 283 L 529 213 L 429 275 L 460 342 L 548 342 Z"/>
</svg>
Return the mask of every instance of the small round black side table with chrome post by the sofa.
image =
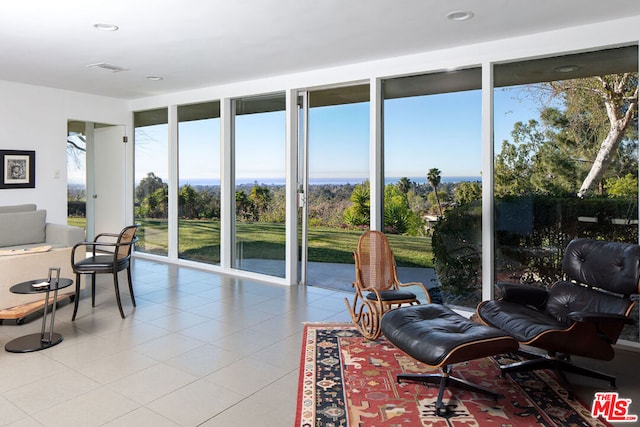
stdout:
<svg viewBox="0 0 640 427">
<path fill-rule="evenodd" d="M 57 275 L 54 276 L 54 272 Z M 34 287 L 34 284 L 48 282 L 49 286 Z M 58 301 L 58 290 L 71 286 L 73 280 L 61 279 L 60 269 L 49 269 L 48 279 L 28 280 L 26 282 L 13 285 L 9 290 L 14 294 L 40 294 L 44 293 L 44 314 L 42 316 L 42 330 L 40 333 L 29 334 L 23 337 L 16 338 L 9 341 L 4 349 L 11 353 L 29 353 L 32 351 L 44 350 L 49 347 L 53 347 L 56 344 L 62 342 L 62 335 L 53 332 L 53 322 L 56 318 L 56 305 Z M 53 304 L 51 307 L 51 322 L 49 325 L 49 332 L 46 331 L 47 326 L 47 309 L 49 306 L 49 293 L 53 291 Z"/>
</svg>

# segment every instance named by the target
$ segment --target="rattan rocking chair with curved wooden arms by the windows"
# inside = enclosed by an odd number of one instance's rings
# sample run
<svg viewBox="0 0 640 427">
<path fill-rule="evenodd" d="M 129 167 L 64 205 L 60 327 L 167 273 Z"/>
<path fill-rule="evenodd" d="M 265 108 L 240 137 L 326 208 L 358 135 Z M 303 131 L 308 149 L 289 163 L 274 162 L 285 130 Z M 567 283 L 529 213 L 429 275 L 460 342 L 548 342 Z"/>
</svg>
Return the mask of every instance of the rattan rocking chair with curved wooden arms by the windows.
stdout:
<svg viewBox="0 0 640 427">
<path fill-rule="evenodd" d="M 396 273 L 396 262 L 389 241 L 384 233 L 367 231 L 358 241 L 358 249 L 353 253 L 356 263 L 356 280 L 352 283 L 356 294 L 353 304 L 345 298 L 351 319 L 358 331 L 367 339 L 380 336 L 380 319 L 387 311 L 403 304 L 420 304 L 413 292 L 401 287 L 421 288 L 426 302 L 431 302 L 427 288 L 420 282 L 401 283 Z"/>
</svg>

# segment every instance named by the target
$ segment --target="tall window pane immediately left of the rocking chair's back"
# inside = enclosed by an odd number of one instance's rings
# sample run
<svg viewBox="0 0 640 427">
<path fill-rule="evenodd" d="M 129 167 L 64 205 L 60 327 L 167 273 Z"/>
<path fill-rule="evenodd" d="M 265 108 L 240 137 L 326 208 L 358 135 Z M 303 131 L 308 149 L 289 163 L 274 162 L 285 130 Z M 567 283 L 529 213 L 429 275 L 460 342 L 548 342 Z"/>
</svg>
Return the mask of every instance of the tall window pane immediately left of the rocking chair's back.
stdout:
<svg viewBox="0 0 640 427">
<path fill-rule="evenodd" d="M 351 290 L 352 252 L 370 224 L 369 85 L 308 99 L 306 284 Z"/>
</svg>

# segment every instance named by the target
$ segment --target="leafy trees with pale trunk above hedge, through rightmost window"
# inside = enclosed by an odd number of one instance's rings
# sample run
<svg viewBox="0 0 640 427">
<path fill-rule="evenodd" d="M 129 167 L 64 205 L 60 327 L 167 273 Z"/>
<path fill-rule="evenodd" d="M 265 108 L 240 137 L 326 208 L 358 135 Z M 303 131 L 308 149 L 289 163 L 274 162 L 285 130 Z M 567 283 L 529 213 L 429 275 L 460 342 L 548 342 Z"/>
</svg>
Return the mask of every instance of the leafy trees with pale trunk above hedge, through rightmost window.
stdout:
<svg viewBox="0 0 640 427">
<path fill-rule="evenodd" d="M 496 155 L 497 196 L 530 193 L 604 194 L 604 182 L 637 173 L 637 73 L 562 80 L 532 86 L 562 102 L 540 121 L 518 122 L 513 143 Z"/>
</svg>

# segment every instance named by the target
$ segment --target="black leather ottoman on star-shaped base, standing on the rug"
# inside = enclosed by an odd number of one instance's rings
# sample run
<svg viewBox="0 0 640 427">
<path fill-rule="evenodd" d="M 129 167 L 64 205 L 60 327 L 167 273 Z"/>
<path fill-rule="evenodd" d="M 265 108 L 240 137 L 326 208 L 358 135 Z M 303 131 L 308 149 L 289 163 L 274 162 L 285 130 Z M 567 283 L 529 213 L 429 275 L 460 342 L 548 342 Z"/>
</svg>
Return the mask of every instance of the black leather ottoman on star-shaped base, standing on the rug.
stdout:
<svg viewBox="0 0 640 427">
<path fill-rule="evenodd" d="M 460 316 L 439 304 L 425 304 L 392 310 L 382 317 L 382 333 L 400 350 L 420 362 L 440 368 L 441 374 L 400 374 L 398 382 L 438 384 L 436 413 L 444 415 L 444 390 L 453 385 L 481 392 L 494 399 L 499 394 L 451 376 L 451 365 L 518 349 L 518 341 L 499 329 Z"/>
</svg>

